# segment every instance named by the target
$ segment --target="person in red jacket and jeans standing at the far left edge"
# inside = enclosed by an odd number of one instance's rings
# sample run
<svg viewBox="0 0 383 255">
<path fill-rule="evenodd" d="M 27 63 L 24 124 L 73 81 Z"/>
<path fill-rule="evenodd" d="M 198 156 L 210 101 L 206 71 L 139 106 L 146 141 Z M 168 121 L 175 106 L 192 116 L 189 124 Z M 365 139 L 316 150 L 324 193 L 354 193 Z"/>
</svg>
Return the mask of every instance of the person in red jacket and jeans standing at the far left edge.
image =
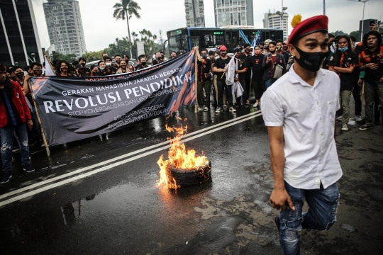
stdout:
<svg viewBox="0 0 383 255">
<path fill-rule="evenodd" d="M 33 128 L 32 117 L 23 89 L 16 82 L 6 76 L 6 67 L 0 64 L 0 133 L 1 133 L 1 161 L 3 175 L 0 183 L 7 183 L 12 178 L 12 146 L 13 133 L 16 132 L 21 145 L 21 164 L 24 171 L 35 171 L 29 164 L 29 146 L 26 125 Z"/>
</svg>

